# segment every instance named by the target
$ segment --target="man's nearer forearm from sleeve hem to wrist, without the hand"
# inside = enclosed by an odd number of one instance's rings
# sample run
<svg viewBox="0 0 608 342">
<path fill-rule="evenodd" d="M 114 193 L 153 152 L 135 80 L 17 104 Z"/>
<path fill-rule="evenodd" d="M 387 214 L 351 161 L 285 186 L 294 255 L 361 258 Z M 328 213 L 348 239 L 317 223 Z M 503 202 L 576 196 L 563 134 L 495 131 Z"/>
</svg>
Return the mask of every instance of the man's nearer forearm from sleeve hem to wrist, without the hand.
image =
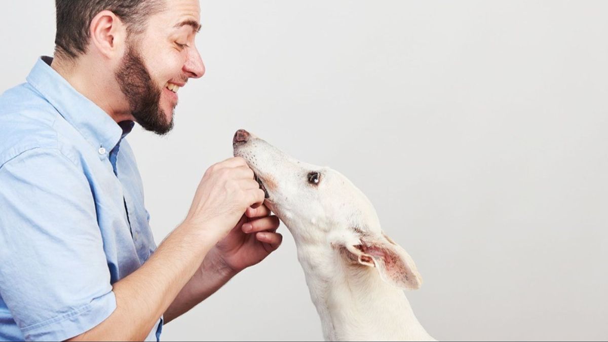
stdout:
<svg viewBox="0 0 608 342">
<path fill-rule="evenodd" d="M 72 340 L 144 340 L 215 244 L 200 231 L 176 228 L 142 267 L 114 284 L 116 310 Z"/>
</svg>

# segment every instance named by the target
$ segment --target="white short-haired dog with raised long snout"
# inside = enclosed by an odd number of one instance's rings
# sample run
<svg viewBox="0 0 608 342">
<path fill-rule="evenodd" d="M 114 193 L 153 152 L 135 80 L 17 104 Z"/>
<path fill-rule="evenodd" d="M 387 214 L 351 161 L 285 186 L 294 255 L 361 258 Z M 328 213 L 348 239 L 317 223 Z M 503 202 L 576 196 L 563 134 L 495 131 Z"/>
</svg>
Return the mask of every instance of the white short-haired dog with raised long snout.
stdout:
<svg viewBox="0 0 608 342">
<path fill-rule="evenodd" d="M 294 236 L 325 340 L 434 341 L 403 292 L 421 285 L 416 265 L 384 234 L 353 183 L 244 130 L 233 147 L 266 190 L 266 206 Z"/>
</svg>

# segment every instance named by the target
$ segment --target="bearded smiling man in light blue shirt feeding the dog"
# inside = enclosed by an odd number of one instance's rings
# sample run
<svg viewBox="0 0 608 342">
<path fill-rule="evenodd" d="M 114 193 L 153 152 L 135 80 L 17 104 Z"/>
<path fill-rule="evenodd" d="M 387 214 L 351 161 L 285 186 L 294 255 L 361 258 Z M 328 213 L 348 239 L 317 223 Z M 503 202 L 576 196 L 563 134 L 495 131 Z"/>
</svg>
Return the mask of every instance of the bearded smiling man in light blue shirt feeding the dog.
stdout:
<svg viewBox="0 0 608 342">
<path fill-rule="evenodd" d="M 57 0 L 55 58 L 0 97 L 0 340 L 158 340 L 281 243 L 243 159 L 156 248 L 125 136 L 204 74 L 197 0 Z"/>
</svg>

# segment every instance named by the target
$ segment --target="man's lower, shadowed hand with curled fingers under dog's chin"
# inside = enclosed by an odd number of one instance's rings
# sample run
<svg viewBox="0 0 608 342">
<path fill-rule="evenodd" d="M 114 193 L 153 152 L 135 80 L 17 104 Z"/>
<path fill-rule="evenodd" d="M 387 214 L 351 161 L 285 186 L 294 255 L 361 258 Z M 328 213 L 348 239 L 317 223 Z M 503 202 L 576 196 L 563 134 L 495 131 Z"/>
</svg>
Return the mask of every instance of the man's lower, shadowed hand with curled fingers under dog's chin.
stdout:
<svg viewBox="0 0 608 342">
<path fill-rule="evenodd" d="M 263 204 L 247 208 L 241 220 L 207 254 L 202 272 L 227 271 L 236 274 L 264 260 L 281 245 L 283 236 L 277 233 L 278 217 L 270 215 Z"/>
</svg>

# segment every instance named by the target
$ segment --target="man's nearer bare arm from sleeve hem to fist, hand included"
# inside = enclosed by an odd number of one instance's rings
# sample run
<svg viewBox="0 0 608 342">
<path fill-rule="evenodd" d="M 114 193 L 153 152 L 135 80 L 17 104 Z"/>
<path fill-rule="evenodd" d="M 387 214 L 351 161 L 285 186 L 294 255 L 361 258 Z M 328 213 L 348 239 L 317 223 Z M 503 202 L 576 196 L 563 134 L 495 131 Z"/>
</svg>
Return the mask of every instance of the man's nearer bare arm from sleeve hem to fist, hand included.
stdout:
<svg viewBox="0 0 608 342">
<path fill-rule="evenodd" d="M 116 310 L 71 341 L 143 340 L 201 267 L 212 246 L 229 233 L 246 208 L 264 200 L 241 158 L 210 167 L 190 212 L 142 267 L 116 282 Z"/>
</svg>

